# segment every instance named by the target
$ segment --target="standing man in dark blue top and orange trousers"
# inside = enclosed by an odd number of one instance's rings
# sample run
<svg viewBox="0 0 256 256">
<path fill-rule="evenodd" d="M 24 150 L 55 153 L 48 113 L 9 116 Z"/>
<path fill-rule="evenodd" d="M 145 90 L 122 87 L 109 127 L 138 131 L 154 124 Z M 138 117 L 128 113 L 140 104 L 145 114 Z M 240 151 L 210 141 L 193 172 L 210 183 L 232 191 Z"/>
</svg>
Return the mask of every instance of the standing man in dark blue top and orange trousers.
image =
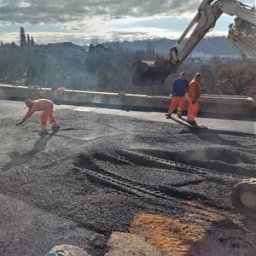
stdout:
<svg viewBox="0 0 256 256">
<path fill-rule="evenodd" d="M 172 112 L 178 103 L 177 107 L 177 117 L 181 118 L 184 108 L 185 95 L 189 90 L 189 81 L 186 79 L 186 74 L 181 72 L 179 74 L 179 79 L 175 79 L 172 85 L 172 104 L 166 113 L 166 117 L 170 118 L 172 116 Z"/>
</svg>

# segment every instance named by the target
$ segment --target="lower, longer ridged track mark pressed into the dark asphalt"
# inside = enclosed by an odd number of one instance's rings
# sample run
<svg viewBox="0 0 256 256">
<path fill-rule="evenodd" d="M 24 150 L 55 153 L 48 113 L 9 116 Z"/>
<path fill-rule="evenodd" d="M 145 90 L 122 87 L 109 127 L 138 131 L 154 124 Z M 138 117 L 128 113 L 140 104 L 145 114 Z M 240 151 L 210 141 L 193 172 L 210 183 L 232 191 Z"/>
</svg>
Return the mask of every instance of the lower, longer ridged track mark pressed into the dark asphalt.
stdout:
<svg viewBox="0 0 256 256">
<path fill-rule="evenodd" d="M 179 163 L 176 164 L 178 165 Z M 110 187 L 113 187 L 113 189 L 117 189 L 131 195 L 137 195 L 139 197 L 144 197 L 148 199 L 158 198 L 168 202 L 172 201 L 172 203 L 174 202 L 177 205 L 183 205 L 184 207 L 189 208 L 195 207 L 195 205 L 192 206 L 190 201 L 197 201 L 200 204 L 198 204 L 195 208 L 209 211 L 208 207 L 211 207 L 212 209 L 210 211 L 212 212 L 230 212 L 230 207 L 219 205 L 217 202 L 212 201 L 211 199 L 199 193 L 180 191 L 175 187 L 166 189 L 147 185 L 144 183 L 139 183 L 129 178 L 121 177 L 113 172 L 108 172 L 97 166 L 96 163 L 93 162 L 93 159 L 90 159 L 88 157 L 84 157 L 83 159 L 82 155 L 80 156 L 79 163 L 74 163 L 74 166 L 79 172 L 83 172 L 87 177 L 90 177 L 91 182 L 95 181 L 95 183 L 102 183 L 105 186 L 108 185 Z M 191 167 L 193 169 L 195 166 L 186 167 Z M 200 173 L 205 173 L 205 170 L 201 170 L 201 168 L 195 167 L 195 169 L 198 172 L 201 171 Z M 207 172 L 211 171 L 207 170 Z"/>
</svg>

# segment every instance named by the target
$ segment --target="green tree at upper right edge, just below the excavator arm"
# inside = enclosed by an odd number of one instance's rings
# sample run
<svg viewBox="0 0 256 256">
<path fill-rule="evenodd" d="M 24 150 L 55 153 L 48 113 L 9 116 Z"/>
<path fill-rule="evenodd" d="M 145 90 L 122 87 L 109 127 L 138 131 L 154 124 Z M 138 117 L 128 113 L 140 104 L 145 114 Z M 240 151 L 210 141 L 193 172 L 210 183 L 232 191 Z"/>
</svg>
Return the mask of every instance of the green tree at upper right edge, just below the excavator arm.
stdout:
<svg viewBox="0 0 256 256">
<path fill-rule="evenodd" d="M 228 38 L 243 60 L 256 58 L 256 26 L 236 18 L 229 26 Z"/>
</svg>

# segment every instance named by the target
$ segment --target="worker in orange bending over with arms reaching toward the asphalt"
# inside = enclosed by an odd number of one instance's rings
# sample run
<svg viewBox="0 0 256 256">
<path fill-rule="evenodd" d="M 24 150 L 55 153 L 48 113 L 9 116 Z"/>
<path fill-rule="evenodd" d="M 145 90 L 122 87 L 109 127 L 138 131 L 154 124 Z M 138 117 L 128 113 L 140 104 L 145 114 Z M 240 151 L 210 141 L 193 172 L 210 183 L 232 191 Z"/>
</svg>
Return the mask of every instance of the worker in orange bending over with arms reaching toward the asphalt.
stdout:
<svg viewBox="0 0 256 256">
<path fill-rule="evenodd" d="M 29 119 L 33 113 L 42 111 L 41 114 L 41 133 L 48 133 L 47 130 L 47 119 L 49 118 L 51 124 L 55 128 L 59 128 L 59 124 L 56 121 L 54 115 L 53 115 L 53 108 L 54 108 L 54 103 L 50 100 L 47 99 L 38 99 L 35 101 L 32 101 L 31 99 L 26 99 L 25 101 L 26 107 L 29 108 L 28 111 L 26 112 L 25 116 L 23 119 L 20 120 L 20 122 L 17 123 L 17 125 L 21 125 L 26 121 L 26 119 Z"/>
</svg>

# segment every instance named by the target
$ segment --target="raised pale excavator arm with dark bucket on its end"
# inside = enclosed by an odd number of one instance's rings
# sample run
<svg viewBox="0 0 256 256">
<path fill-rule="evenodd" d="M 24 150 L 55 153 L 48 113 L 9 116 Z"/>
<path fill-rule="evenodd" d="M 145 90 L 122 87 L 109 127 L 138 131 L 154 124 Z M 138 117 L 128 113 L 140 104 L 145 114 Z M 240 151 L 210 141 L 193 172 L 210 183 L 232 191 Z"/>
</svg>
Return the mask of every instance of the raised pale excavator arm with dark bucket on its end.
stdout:
<svg viewBox="0 0 256 256">
<path fill-rule="evenodd" d="M 134 85 L 157 85 L 164 84 L 170 73 L 175 73 L 177 68 L 195 49 L 202 38 L 210 32 L 218 18 L 223 14 L 236 15 L 242 20 L 254 24 L 255 8 L 249 7 L 236 0 L 204 0 L 198 12 L 189 26 L 185 29 L 177 44 L 170 49 L 169 59 L 157 58 L 155 61 L 136 61 L 132 67 L 132 81 Z M 183 49 L 178 51 L 177 47 L 183 42 L 191 28 L 195 25 L 194 31 L 189 36 Z"/>
</svg>

